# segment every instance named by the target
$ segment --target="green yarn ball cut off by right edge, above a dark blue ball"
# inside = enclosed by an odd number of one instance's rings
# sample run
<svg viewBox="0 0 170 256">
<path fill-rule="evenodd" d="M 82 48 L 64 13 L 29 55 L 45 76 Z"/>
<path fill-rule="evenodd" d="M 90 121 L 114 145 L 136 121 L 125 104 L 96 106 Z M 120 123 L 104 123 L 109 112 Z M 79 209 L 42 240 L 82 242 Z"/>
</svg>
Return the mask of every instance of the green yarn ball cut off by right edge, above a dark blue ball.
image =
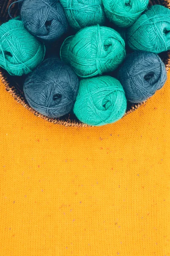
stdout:
<svg viewBox="0 0 170 256">
<path fill-rule="evenodd" d="M 130 48 L 160 53 L 170 49 L 170 9 L 151 6 L 129 29 Z"/>
</svg>

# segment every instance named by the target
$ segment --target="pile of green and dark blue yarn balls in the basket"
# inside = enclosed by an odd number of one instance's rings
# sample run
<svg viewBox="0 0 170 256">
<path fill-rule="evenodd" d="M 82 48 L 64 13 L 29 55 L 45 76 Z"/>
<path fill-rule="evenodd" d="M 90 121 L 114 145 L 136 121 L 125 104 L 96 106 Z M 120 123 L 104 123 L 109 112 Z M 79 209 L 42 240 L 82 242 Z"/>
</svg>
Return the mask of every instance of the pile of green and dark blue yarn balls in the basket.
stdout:
<svg viewBox="0 0 170 256">
<path fill-rule="evenodd" d="M 10 13 L 14 4 L 20 9 L 16 18 Z M 116 122 L 128 102 L 146 101 L 167 80 L 158 54 L 170 50 L 170 9 L 148 4 L 15 1 L 11 19 L 0 26 L 0 67 L 11 76 L 27 75 L 26 101 L 44 116 L 74 113 L 95 126 Z M 49 57 L 59 40 L 60 54 Z"/>
</svg>

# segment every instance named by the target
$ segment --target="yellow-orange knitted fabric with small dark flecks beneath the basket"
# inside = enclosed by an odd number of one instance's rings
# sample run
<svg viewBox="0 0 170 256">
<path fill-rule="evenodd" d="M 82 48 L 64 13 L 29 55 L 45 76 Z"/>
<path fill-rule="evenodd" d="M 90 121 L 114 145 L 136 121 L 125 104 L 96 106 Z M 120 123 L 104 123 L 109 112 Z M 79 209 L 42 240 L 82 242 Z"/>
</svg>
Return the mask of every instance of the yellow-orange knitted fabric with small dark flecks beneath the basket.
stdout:
<svg viewBox="0 0 170 256">
<path fill-rule="evenodd" d="M 92 128 L 46 122 L 0 83 L 0 256 L 118 255 L 170 256 L 170 80 Z"/>
</svg>

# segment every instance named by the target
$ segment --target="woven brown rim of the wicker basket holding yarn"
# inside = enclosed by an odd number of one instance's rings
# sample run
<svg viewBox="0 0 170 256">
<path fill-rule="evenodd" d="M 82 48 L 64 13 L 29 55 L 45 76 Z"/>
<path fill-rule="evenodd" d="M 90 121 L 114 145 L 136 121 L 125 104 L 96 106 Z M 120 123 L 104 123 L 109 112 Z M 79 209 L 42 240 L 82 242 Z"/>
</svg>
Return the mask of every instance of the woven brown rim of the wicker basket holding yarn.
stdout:
<svg viewBox="0 0 170 256">
<path fill-rule="evenodd" d="M 13 2 L 13 0 L 11 2 Z M 3 5 L 3 3 L 4 3 L 4 0 L 0 0 L 0 7 Z M 156 2 L 156 0 L 155 1 L 154 0 L 150 1 L 150 5 L 153 5 L 155 3 L 156 4 L 162 4 L 165 7 L 170 9 L 170 0 L 165 0 L 165 1 L 162 0 L 162 2 L 160 2 L 159 0 L 157 0 L 157 2 Z M 8 9 L 8 5 L 7 5 L 7 9 Z M 165 58 L 164 64 L 165 64 L 166 70 L 168 71 L 170 69 L 170 51 L 165 52 L 165 54 L 167 55 L 167 58 Z M 6 73 L 6 71 L 4 71 L 2 68 L 0 68 L 0 79 L 3 82 L 3 84 L 5 85 L 6 90 L 14 97 L 14 99 L 18 103 L 20 103 L 24 108 L 26 108 L 28 111 L 33 113 L 35 116 L 40 117 L 40 118 L 42 118 L 42 119 L 44 119 L 48 122 L 51 122 L 53 124 L 64 125 L 66 127 L 69 127 L 69 126 L 72 126 L 72 127 L 92 127 L 93 126 L 93 125 L 87 125 L 87 124 L 82 123 L 81 121 L 77 121 L 75 119 L 71 120 L 71 119 L 69 119 L 69 117 L 68 117 L 68 119 L 49 118 L 48 116 L 44 116 L 44 115 L 40 114 L 39 112 L 35 111 L 33 108 L 30 107 L 30 105 L 28 105 L 28 103 L 26 102 L 26 99 L 24 99 L 23 96 L 20 95 L 17 88 L 9 83 L 8 78 L 7 78 L 5 73 Z M 130 110 L 128 110 L 124 114 L 124 116 L 122 116 L 122 118 L 124 118 L 128 114 L 132 113 L 136 109 L 140 108 L 140 106 L 142 106 L 144 103 L 146 103 L 147 100 L 145 102 L 141 102 L 141 103 L 138 103 L 138 104 L 133 104 L 131 106 Z"/>
</svg>

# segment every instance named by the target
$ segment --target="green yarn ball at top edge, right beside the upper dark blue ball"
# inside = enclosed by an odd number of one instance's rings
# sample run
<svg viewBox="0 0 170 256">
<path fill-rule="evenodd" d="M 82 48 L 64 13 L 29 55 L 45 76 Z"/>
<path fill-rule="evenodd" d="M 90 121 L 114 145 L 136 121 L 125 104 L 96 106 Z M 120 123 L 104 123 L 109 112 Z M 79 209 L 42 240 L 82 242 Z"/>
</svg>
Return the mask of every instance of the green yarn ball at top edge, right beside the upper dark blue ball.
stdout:
<svg viewBox="0 0 170 256">
<path fill-rule="evenodd" d="M 74 29 L 103 25 L 105 12 L 102 0 L 60 0 L 68 23 Z"/>
</svg>

